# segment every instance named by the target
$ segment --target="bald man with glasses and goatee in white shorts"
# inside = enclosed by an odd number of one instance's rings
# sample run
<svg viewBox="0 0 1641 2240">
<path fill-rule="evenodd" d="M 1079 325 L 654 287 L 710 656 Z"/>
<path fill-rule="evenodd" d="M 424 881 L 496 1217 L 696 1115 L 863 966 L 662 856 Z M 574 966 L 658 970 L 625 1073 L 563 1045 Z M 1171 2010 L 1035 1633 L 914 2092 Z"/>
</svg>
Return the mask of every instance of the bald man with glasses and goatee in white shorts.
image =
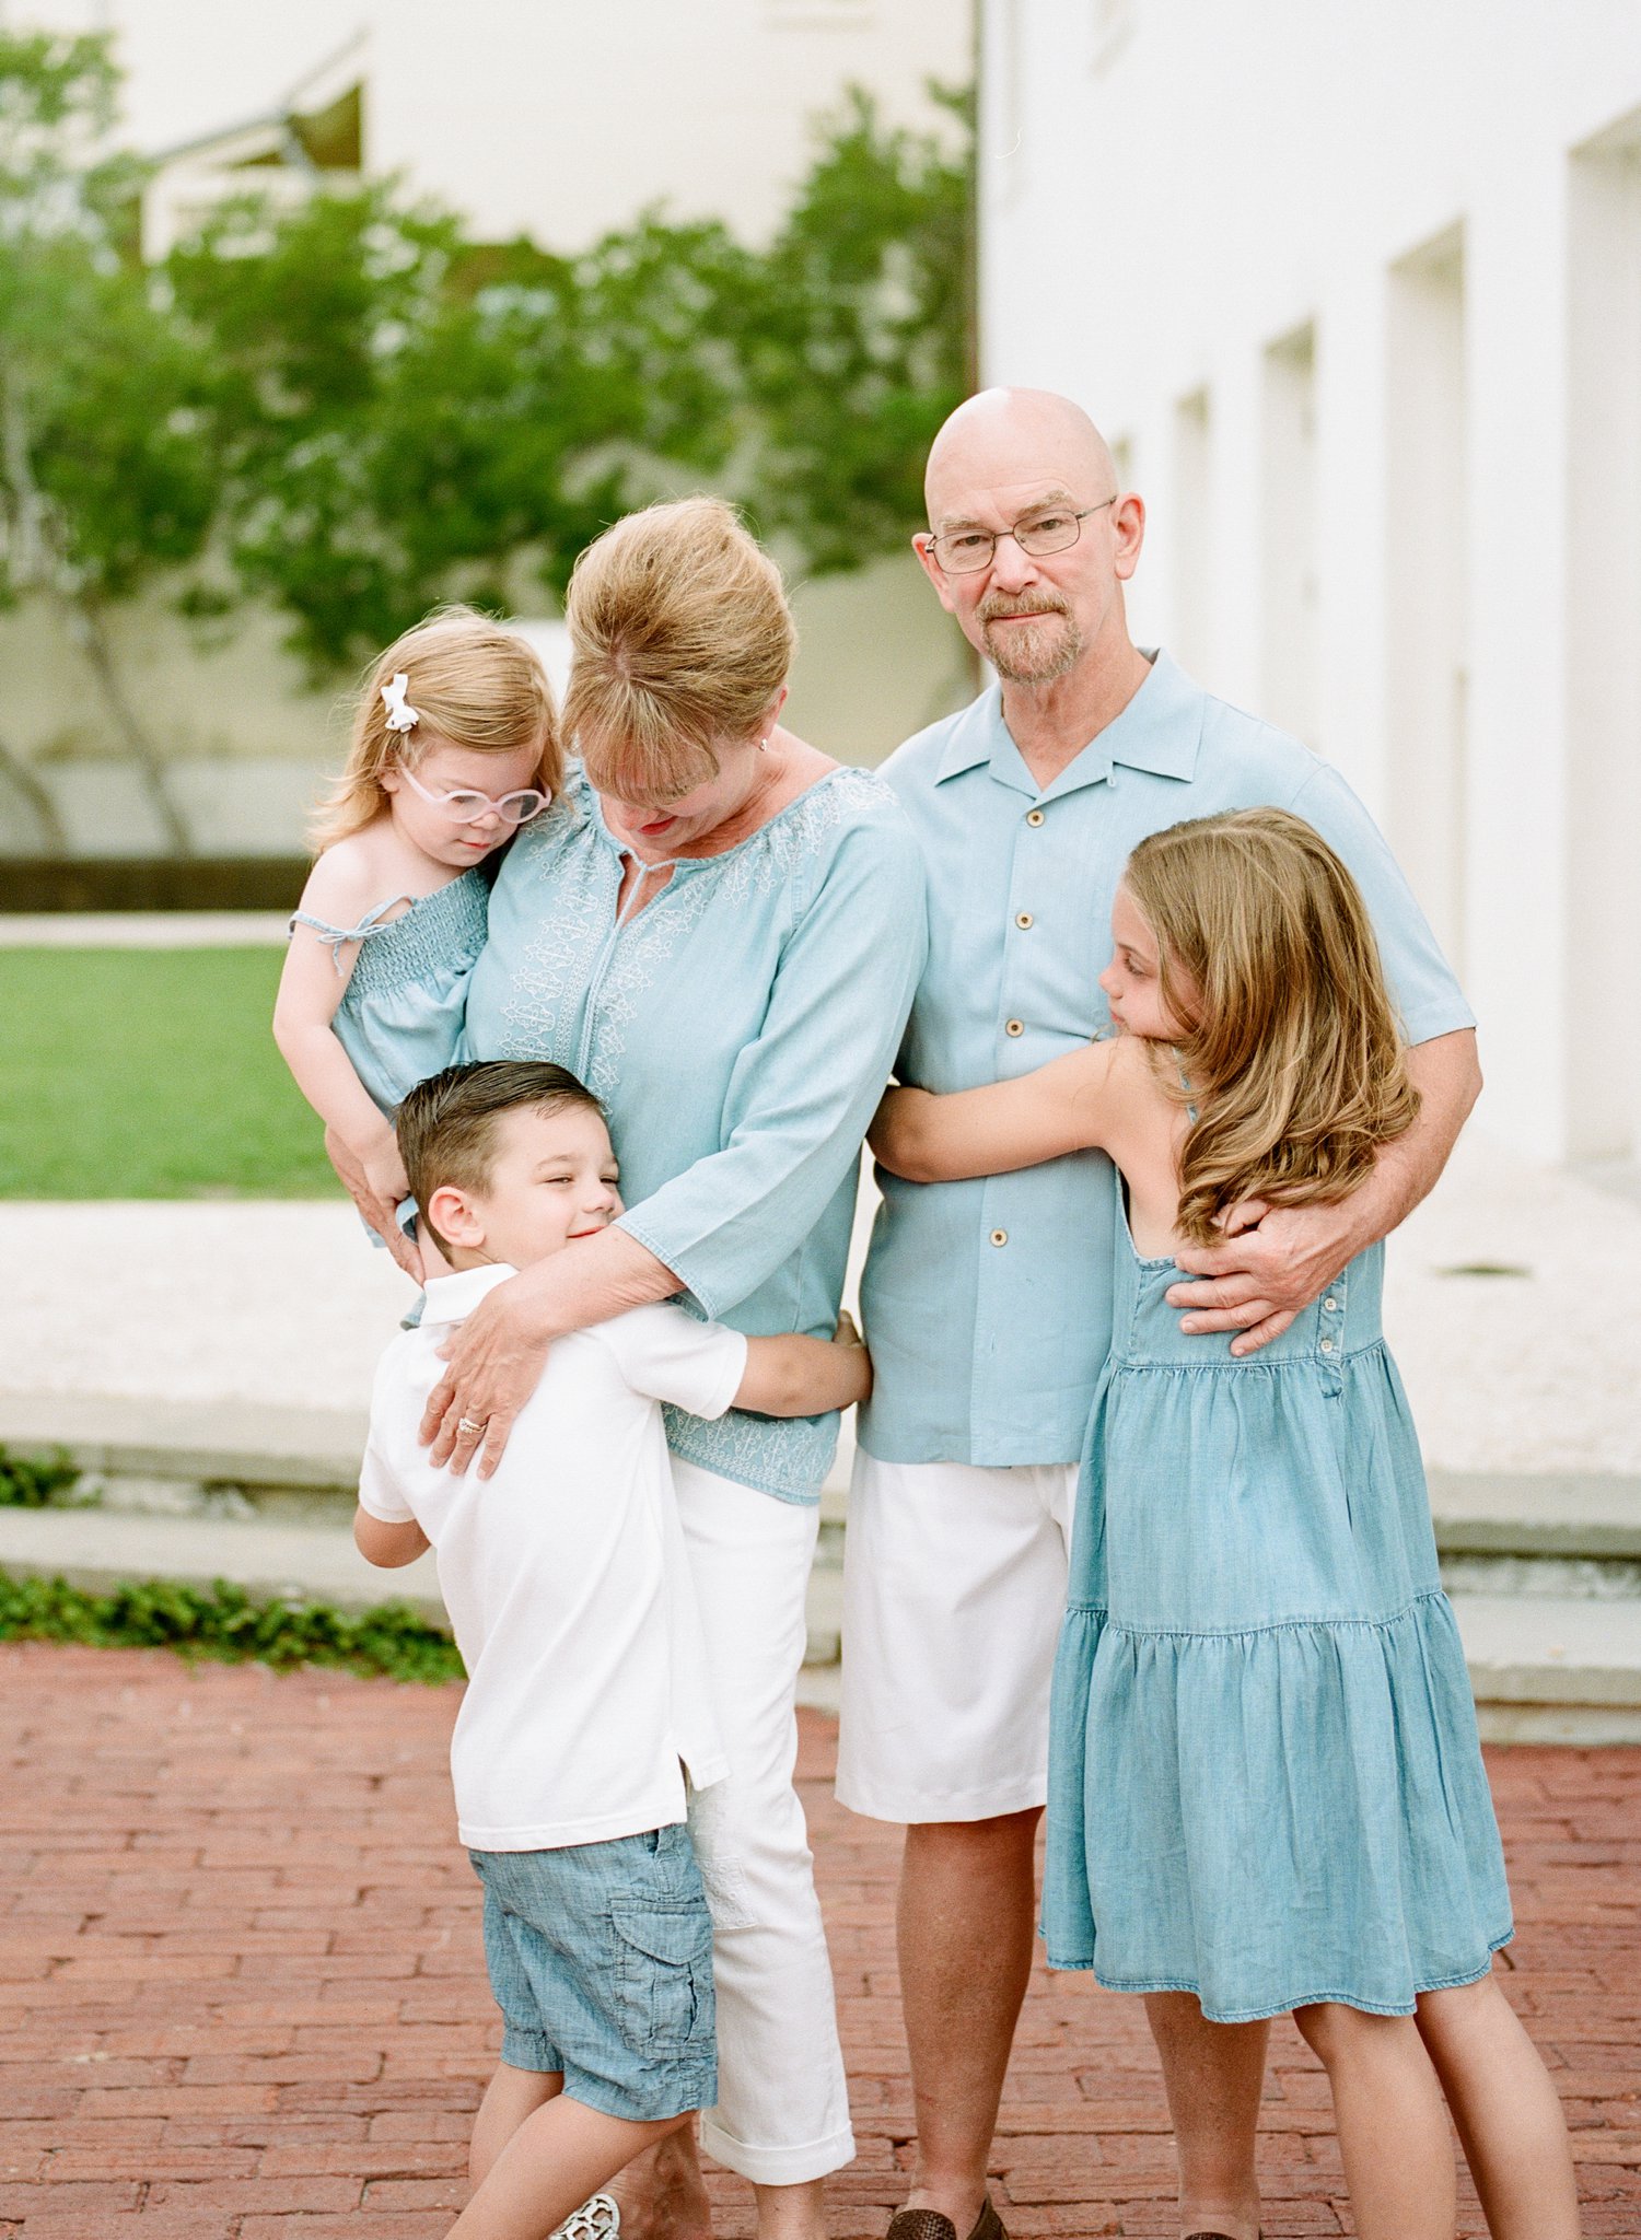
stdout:
<svg viewBox="0 0 1641 2240">
<path fill-rule="evenodd" d="M 883 766 L 930 878 L 903 1082 L 971 1089 L 1105 1028 L 1116 876 L 1146 833 L 1184 818 L 1294 811 L 1338 849 L 1374 916 L 1415 1044 L 1415 1131 L 1343 1205 L 1280 1210 L 1213 1252 L 1181 1252 L 1206 1281 L 1168 1295 L 1181 1328 L 1258 1348 L 1435 1183 L 1480 1086 L 1471 1012 L 1343 780 L 1132 643 L 1123 585 L 1146 508 L 1078 405 L 1040 390 L 968 399 L 935 439 L 926 497 L 917 556 L 998 683 Z M 908 1823 L 899 1962 L 917 2166 L 892 2240 L 995 2240 L 986 2157 L 1031 1967 L 1049 1671 L 1112 1335 L 1114 1196 L 1098 1151 L 991 1180 L 881 1183 L 838 1796 Z M 1177 1987 L 1146 2005 L 1179 2139 L 1181 2233 L 1255 2240 L 1267 2025 L 1204 2023 Z"/>
</svg>

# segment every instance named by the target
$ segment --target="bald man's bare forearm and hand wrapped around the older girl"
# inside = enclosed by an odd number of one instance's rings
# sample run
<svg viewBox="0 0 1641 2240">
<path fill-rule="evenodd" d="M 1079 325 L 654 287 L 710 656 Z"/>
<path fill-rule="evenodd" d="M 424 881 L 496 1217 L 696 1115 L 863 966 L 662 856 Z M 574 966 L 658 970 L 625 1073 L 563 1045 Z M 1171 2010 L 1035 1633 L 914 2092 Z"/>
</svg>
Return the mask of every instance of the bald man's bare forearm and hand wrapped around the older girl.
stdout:
<svg viewBox="0 0 1641 2240">
<path fill-rule="evenodd" d="M 1361 1189 L 1338 1205 L 1271 1207 L 1258 1228 L 1229 1243 L 1175 1254 L 1186 1275 L 1211 1277 L 1175 1284 L 1168 1292 L 1170 1306 L 1190 1308 L 1181 1331 L 1193 1337 L 1240 1331 L 1231 1351 L 1258 1353 L 1347 1261 L 1399 1228 L 1430 1194 L 1482 1091 L 1475 1028 L 1415 1044 L 1408 1077 L 1419 1091 L 1419 1118 L 1383 1147 Z"/>
</svg>

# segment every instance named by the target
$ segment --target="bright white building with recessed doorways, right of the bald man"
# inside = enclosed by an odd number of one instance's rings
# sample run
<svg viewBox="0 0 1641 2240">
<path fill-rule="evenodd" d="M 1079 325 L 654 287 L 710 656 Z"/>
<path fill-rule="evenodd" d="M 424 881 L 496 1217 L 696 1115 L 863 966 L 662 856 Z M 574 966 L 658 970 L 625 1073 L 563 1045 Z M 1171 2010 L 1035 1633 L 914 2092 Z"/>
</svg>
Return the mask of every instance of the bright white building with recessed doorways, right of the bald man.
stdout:
<svg viewBox="0 0 1641 2240">
<path fill-rule="evenodd" d="M 1132 614 L 1334 759 L 1489 1127 L 1641 1156 L 1641 9 L 984 0 L 989 381 L 1150 502 Z"/>
</svg>

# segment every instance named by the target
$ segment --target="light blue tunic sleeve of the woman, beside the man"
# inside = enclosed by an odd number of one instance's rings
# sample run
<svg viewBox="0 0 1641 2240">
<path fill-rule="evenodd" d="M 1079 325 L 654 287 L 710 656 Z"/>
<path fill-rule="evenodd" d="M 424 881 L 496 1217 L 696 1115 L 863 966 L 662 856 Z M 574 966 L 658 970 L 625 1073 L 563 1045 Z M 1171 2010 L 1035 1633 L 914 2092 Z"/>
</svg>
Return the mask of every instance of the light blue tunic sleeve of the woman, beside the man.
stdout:
<svg viewBox="0 0 1641 2240">
<path fill-rule="evenodd" d="M 926 950 L 924 860 L 892 806 L 843 831 L 787 934 L 762 1028 L 731 1073 L 722 1151 L 619 1221 L 706 1315 L 758 1290 L 847 1178 Z"/>
</svg>

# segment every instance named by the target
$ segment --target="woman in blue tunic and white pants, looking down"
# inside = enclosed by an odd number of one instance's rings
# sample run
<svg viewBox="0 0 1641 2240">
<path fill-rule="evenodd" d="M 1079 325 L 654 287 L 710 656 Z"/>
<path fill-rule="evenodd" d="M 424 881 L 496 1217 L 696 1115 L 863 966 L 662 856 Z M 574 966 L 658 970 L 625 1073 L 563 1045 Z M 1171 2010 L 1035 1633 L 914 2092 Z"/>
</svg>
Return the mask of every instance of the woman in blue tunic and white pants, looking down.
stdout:
<svg viewBox="0 0 1641 2240">
<path fill-rule="evenodd" d="M 780 728 L 791 616 L 726 506 L 610 529 L 576 567 L 569 632 L 581 768 L 502 867 L 466 1039 L 603 1098 L 630 1212 L 471 1317 L 424 1425 L 457 1469 L 500 1452 L 554 1337 L 641 1301 L 832 1333 L 856 1154 L 924 959 L 894 797 Z M 818 2240 L 820 2177 L 854 2141 L 791 1770 L 836 1418 L 668 1411 L 668 1436 L 731 1754 L 695 1826 L 722 2076 L 704 2139 L 758 2188 L 767 2236 Z"/>
</svg>

